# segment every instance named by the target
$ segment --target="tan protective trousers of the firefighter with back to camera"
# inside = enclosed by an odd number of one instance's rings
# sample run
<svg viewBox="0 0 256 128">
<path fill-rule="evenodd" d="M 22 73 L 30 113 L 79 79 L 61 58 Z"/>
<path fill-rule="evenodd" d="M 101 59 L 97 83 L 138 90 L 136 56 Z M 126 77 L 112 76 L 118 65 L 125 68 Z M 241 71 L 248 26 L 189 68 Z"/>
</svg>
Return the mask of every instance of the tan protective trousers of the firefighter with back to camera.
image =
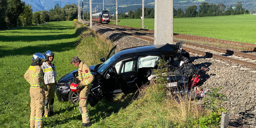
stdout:
<svg viewBox="0 0 256 128">
<path fill-rule="evenodd" d="M 45 92 L 43 89 L 30 88 L 30 127 L 41 128 L 43 127 L 42 116 L 43 116 L 43 106 L 45 104 Z"/>
</svg>

